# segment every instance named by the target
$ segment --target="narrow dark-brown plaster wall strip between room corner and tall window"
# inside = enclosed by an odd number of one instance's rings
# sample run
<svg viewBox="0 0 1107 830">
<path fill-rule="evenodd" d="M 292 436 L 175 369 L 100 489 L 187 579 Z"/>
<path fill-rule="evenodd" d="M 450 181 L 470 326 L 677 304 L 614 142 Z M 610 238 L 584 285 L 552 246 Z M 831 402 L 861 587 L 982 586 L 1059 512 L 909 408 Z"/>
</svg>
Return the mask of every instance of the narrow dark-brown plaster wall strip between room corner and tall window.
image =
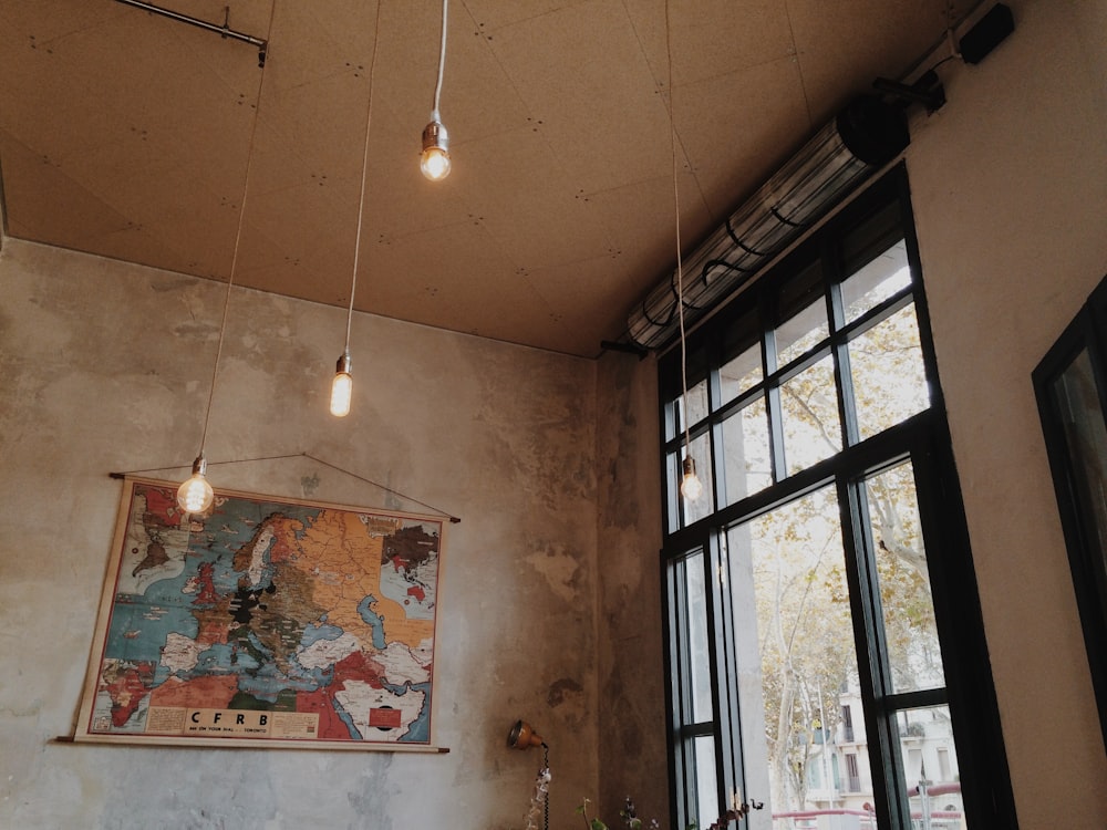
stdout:
<svg viewBox="0 0 1107 830">
<path fill-rule="evenodd" d="M 597 371 L 598 815 L 631 796 L 668 827 L 658 367 L 612 353 Z"/>
</svg>

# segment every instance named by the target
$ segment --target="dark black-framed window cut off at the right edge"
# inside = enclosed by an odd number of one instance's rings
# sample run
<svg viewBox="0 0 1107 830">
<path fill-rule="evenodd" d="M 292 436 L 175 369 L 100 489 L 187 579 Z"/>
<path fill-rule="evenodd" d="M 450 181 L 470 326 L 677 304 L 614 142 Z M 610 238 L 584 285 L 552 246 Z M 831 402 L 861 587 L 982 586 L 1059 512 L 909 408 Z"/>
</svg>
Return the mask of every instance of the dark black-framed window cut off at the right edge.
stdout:
<svg viewBox="0 0 1107 830">
<path fill-rule="evenodd" d="M 1033 382 L 1107 747 L 1107 279 Z"/>
</svg>

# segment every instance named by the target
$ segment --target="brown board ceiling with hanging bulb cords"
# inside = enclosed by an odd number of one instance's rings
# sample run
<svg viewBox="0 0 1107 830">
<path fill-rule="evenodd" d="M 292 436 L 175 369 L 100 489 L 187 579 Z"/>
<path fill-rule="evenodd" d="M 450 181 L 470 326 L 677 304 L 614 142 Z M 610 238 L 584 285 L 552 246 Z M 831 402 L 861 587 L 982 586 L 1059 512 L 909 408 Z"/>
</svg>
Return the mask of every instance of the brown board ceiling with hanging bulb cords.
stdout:
<svg viewBox="0 0 1107 830">
<path fill-rule="evenodd" d="M 7 235 L 226 281 L 245 201 L 235 283 L 345 308 L 376 3 L 156 4 L 268 40 L 265 70 L 249 43 L 116 0 L 0 3 Z M 453 0 L 453 172 L 431 183 L 442 6 L 382 0 L 355 308 L 596 356 L 675 262 L 670 100 L 687 252 L 966 11 L 668 4 L 671 96 L 664 0 Z"/>
</svg>

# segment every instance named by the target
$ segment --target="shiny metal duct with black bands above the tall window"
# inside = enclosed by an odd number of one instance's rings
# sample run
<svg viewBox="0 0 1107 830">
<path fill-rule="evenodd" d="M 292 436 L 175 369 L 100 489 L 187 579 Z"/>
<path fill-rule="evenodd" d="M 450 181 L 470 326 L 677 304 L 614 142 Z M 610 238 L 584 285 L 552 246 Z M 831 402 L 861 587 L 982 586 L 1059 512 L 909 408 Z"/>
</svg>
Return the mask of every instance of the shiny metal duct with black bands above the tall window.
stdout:
<svg viewBox="0 0 1107 830">
<path fill-rule="evenodd" d="M 846 105 L 685 260 L 685 323 L 753 279 L 909 143 L 901 107 L 871 95 Z M 676 299 L 674 269 L 631 311 L 631 339 L 646 349 L 669 343 L 677 334 Z"/>
</svg>

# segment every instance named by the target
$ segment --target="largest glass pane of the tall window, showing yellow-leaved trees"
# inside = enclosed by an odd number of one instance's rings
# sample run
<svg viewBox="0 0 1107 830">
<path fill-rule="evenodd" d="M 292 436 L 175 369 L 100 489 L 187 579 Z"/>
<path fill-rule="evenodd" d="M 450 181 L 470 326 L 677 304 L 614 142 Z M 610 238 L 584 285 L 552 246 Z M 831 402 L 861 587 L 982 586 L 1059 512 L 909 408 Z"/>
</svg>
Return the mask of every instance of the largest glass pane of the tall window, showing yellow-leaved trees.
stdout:
<svg viewBox="0 0 1107 830">
<path fill-rule="evenodd" d="M 860 809 L 872 785 L 835 489 L 732 528 L 727 550 L 747 797 L 782 830 L 796 827 L 786 813 Z M 836 786 L 835 758 L 845 769 L 850 755 L 856 780 Z"/>
</svg>

